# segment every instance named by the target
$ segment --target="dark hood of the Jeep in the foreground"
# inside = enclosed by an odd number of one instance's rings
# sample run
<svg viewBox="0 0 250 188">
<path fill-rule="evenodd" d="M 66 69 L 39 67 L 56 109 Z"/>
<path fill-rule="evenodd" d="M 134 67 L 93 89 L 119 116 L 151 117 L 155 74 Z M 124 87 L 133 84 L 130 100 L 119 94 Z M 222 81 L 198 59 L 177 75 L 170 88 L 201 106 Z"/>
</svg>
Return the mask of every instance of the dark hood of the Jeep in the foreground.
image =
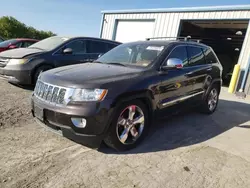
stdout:
<svg viewBox="0 0 250 188">
<path fill-rule="evenodd" d="M 52 69 L 41 75 L 41 80 L 64 87 L 101 86 L 138 76 L 143 69 L 102 63 L 85 63 Z"/>
</svg>

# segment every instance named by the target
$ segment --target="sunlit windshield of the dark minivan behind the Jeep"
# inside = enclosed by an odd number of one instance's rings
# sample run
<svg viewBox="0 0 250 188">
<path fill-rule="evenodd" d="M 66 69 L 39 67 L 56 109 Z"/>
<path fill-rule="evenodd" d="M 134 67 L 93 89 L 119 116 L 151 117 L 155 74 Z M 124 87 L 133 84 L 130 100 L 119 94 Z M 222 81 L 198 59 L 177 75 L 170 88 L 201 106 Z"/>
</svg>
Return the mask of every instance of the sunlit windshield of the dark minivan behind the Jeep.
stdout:
<svg viewBox="0 0 250 188">
<path fill-rule="evenodd" d="M 65 38 L 65 37 L 49 37 L 46 38 L 44 40 L 41 40 L 31 46 L 29 46 L 28 48 L 38 48 L 41 50 L 53 50 L 55 49 L 57 46 L 61 45 L 62 43 L 64 43 L 65 41 L 69 40 L 69 38 Z"/>
</svg>

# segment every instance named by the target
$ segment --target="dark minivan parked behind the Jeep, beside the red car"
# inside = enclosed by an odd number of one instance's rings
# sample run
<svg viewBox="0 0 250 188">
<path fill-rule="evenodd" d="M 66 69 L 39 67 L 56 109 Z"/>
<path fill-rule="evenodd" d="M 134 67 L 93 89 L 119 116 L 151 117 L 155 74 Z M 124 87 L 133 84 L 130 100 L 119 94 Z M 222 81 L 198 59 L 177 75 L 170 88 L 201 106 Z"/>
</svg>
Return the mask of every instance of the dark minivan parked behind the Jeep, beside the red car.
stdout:
<svg viewBox="0 0 250 188">
<path fill-rule="evenodd" d="M 8 44 L 5 41 L 1 44 Z M 88 37 L 54 36 L 27 48 L 0 53 L 0 76 L 16 84 L 35 84 L 41 72 L 52 68 L 91 62 L 120 43 Z"/>
</svg>

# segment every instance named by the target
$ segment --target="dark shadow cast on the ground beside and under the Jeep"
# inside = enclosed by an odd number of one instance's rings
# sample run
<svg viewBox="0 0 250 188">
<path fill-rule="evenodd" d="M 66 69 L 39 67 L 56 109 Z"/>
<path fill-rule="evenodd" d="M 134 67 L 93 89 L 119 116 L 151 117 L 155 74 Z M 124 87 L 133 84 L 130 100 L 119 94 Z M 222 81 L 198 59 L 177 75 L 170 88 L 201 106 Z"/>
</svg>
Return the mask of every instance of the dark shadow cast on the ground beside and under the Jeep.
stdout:
<svg viewBox="0 0 250 188">
<path fill-rule="evenodd" d="M 249 120 L 250 104 L 220 100 L 217 111 L 212 115 L 184 111 L 155 122 L 146 139 L 135 149 L 116 152 L 101 147 L 99 151 L 106 154 L 137 154 L 171 150 L 202 143 Z M 240 127 L 250 128 L 250 125 Z"/>
</svg>

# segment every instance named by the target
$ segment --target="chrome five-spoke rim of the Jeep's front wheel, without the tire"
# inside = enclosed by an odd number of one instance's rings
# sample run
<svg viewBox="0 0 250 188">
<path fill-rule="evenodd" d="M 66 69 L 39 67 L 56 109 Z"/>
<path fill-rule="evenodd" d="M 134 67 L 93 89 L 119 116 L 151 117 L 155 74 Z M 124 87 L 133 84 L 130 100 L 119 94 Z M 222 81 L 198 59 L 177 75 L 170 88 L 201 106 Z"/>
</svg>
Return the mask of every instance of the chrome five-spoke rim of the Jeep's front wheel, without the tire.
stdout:
<svg viewBox="0 0 250 188">
<path fill-rule="evenodd" d="M 140 107 L 131 105 L 120 114 L 116 134 L 122 144 L 133 144 L 144 130 L 145 117 Z"/>
</svg>

